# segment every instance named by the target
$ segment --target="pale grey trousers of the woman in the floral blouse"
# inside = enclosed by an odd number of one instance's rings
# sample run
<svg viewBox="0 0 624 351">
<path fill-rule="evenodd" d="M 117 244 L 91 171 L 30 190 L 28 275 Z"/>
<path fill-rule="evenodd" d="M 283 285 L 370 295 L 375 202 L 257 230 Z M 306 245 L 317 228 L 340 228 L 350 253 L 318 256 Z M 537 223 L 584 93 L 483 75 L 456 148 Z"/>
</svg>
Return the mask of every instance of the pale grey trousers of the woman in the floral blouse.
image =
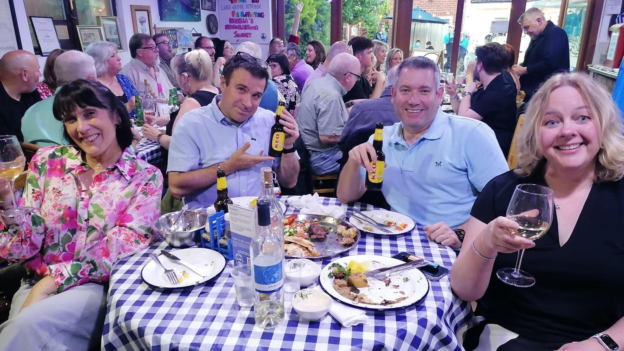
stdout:
<svg viewBox="0 0 624 351">
<path fill-rule="evenodd" d="M 84 284 L 21 310 L 34 280 L 24 279 L 0 325 L 0 351 L 87 351 L 100 342 L 107 287 Z"/>
</svg>

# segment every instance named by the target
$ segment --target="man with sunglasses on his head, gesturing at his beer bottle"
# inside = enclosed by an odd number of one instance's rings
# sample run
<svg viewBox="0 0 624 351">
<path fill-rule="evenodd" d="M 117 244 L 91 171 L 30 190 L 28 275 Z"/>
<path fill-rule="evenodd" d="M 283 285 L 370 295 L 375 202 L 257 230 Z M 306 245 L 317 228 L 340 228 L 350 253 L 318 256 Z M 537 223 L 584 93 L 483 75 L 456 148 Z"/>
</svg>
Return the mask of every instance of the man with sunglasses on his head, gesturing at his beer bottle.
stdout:
<svg viewBox="0 0 624 351">
<path fill-rule="evenodd" d="M 217 199 L 218 167 L 227 174 L 228 195 L 260 194 L 260 169 L 272 167 L 283 187 L 294 187 L 299 161 L 293 144 L 297 122 L 283 112 L 286 139 L 280 159 L 268 152 L 275 114 L 258 108 L 268 71 L 265 61 L 238 52 L 223 67 L 222 94 L 212 103 L 180 117 L 169 146 L 167 172 L 173 197 L 185 197 L 191 209 Z"/>
</svg>

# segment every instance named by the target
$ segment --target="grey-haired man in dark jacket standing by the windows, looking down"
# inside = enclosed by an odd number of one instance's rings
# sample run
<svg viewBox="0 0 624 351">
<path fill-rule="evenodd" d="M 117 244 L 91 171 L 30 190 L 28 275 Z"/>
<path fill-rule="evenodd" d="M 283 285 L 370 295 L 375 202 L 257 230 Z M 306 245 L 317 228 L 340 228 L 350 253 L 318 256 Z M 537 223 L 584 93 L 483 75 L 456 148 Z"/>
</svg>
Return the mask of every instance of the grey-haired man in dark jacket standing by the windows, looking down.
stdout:
<svg viewBox="0 0 624 351">
<path fill-rule="evenodd" d="M 528 102 L 533 92 L 552 74 L 570 70 L 568 34 L 553 22 L 546 21 L 544 13 L 532 7 L 520 16 L 518 23 L 531 38 L 524 62 L 512 67 L 520 77 L 520 89 Z"/>
</svg>

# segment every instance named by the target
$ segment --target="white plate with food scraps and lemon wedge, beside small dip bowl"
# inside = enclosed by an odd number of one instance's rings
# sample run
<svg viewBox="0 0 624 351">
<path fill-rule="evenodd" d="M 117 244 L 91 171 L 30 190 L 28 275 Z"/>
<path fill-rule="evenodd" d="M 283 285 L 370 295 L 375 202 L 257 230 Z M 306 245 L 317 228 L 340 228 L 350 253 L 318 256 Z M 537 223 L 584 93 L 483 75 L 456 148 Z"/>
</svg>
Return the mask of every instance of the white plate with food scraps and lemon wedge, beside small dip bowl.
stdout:
<svg viewBox="0 0 624 351">
<path fill-rule="evenodd" d="M 356 273 L 358 276 L 354 277 L 351 273 L 346 278 L 334 276 L 336 265 L 347 270 L 351 261 L 357 262 L 366 271 L 405 263 L 392 257 L 356 255 L 341 257 L 326 265 L 321 270 L 320 285 L 333 299 L 343 304 L 368 310 L 405 309 L 421 302 L 429 292 L 429 280 L 416 268 L 391 275 L 387 280 L 366 279 L 366 287 L 361 286 L 363 274 Z M 351 267 L 351 270 L 357 270 L 357 267 Z M 359 287 L 354 290 L 354 285 Z"/>
</svg>

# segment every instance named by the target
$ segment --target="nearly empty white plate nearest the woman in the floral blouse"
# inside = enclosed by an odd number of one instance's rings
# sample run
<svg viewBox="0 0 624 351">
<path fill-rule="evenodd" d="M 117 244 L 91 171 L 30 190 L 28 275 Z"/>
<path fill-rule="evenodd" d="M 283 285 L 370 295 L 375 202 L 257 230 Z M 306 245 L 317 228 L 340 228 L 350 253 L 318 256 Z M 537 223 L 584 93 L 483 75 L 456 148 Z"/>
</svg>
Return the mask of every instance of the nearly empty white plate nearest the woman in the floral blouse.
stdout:
<svg viewBox="0 0 624 351">
<path fill-rule="evenodd" d="M 162 268 L 160 268 L 153 259 L 150 259 L 141 270 L 141 278 L 144 282 L 148 285 L 152 285 L 152 287 L 160 289 L 192 287 L 217 277 L 225 268 L 225 257 L 215 250 L 203 249 L 202 247 L 189 247 L 188 249 L 171 250 L 170 252 L 176 255 L 180 260 L 197 267 L 197 269 L 201 269 L 200 273 L 205 275 L 205 277 L 193 273 L 192 270 L 183 265 L 173 263 L 173 261 L 160 254 L 158 255 L 160 262 L 162 262 L 167 269 L 173 269 L 178 279 L 182 277 L 182 271 L 188 273 L 188 278 L 183 279 L 180 284 L 173 285 L 165 276 L 165 272 Z"/>
</svg>

